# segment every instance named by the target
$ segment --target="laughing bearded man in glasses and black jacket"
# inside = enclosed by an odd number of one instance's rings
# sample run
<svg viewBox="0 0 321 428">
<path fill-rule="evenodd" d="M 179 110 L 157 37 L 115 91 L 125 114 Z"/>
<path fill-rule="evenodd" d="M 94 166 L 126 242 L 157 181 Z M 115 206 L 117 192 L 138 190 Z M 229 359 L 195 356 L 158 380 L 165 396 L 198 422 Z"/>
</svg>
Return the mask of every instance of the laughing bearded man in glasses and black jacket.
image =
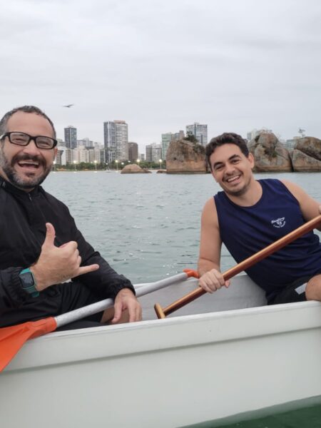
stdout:
<svg viewBox="0 0 321 428">
<path fill-rule="evenodd" d="M 15 108 L 0 121 L 0 327 L 107 297 L 114 309 L 81 327 L 141 320 L 131 282 L 86 242 L 66 205 L 40 186 L 56 145 L 54 124 L 37 107 Z"/>
</svg>

